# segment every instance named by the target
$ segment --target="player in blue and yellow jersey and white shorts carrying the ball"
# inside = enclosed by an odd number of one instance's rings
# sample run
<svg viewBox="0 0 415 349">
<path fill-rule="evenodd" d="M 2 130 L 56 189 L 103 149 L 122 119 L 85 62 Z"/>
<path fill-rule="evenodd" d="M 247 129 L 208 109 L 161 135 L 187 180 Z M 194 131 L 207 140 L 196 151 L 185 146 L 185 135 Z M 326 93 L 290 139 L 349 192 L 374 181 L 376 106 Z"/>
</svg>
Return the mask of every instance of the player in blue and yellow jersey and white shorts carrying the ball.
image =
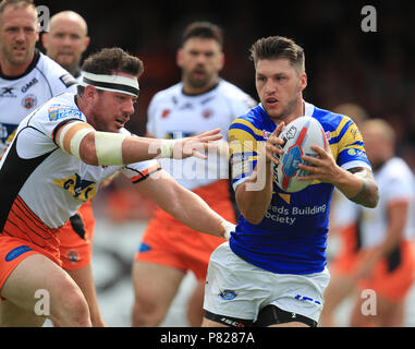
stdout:
<svg viewBox="0 0 415 349">
<path fill-rule="evenodd" d="M 260 105 L 230 127 L 232 183 L 241 216 L 229 242 L 211 254 L 204 326 L 317 326 L 330 275 L 326 245 L 334 186 L 367 207 L 379 201 L 364 143 L 351 118 L 303 99 L 304 50 L 292 39 L 267 37 L 251 49 Z M 288 193 L 272 181 L 279 134 L 302 116 L 316 118 L 329 143 L 314 147 L 313 179 Z"/>
</svg>

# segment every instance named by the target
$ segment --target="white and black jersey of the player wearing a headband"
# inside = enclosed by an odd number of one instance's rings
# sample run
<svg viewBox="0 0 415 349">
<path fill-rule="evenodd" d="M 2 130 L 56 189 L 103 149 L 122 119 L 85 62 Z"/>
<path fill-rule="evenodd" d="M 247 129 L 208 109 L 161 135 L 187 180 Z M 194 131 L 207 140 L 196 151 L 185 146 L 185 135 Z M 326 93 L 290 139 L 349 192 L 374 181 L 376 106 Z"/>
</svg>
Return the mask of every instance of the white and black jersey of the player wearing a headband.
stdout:
<svg viewBox="0 0 415 349">
<path fill-rule="evenodd" d="M 19 201 L 27 214 L 48 228 L 63 226 L 80 206 L 95 196 L 99 183 L 117 171 L 132 182 L 159 169 L 156 160 L 127 166 L 91 166 L 62 151 L 54 143 L 57 130 L 71 120 L 87 122 L 75 95 L 58 95 L 29 113 L 0 161 L 0 231 Z M 131 134 L 125 129 L 122 133 Z M 22 219 L 24 220 L 24 219 Z"/>
</svg>

